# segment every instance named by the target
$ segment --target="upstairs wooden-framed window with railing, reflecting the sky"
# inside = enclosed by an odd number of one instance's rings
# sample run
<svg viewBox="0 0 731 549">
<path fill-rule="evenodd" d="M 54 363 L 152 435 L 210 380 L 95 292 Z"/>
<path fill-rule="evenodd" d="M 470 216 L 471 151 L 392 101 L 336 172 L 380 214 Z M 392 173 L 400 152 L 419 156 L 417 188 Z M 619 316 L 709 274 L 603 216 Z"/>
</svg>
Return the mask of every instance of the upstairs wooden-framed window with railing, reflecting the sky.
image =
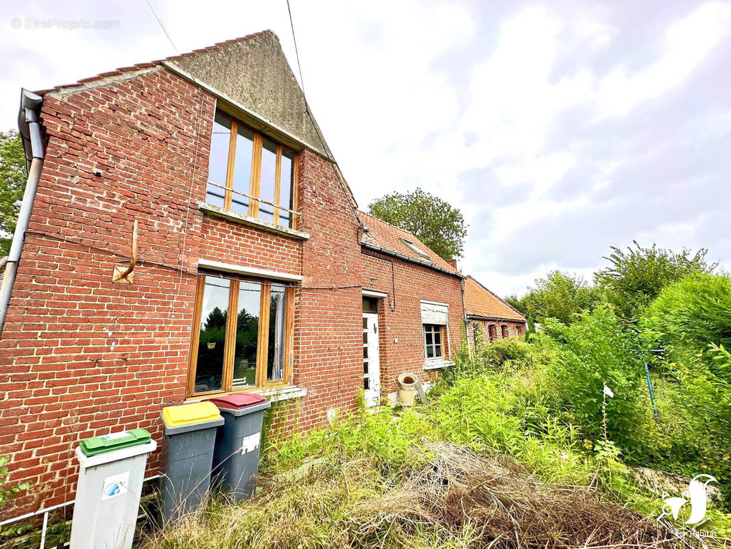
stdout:
<svg viewBox="0 0 731 549">
<path fill-rule="evenodd" d="M 205 199 L 214 206 L 294 228 L 297 154 L 216 111 Z"/>
</svg>

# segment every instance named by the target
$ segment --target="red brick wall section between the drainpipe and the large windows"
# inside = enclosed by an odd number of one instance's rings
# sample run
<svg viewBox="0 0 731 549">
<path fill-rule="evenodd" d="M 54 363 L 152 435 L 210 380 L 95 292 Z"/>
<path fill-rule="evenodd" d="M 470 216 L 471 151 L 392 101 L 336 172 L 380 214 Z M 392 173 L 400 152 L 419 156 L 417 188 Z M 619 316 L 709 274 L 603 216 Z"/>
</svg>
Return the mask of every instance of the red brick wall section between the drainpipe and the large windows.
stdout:
<svg viewBox="0 0 731 549">
<path fill-rule="evenodd" d="M 80 438 L 132 426 L 159 439 L 160 409 L 184 396 L 197 210 L 183 230 L 214 102 L 164 70 L 126 78 L 42 109 L 48 149 L 0 342 L 0 454 L 12 482 L 34 482 L 15 501 L 26 510 L 72 499 Z M 113 284 L 133 220 L 135 283 Z"/>
</svg>

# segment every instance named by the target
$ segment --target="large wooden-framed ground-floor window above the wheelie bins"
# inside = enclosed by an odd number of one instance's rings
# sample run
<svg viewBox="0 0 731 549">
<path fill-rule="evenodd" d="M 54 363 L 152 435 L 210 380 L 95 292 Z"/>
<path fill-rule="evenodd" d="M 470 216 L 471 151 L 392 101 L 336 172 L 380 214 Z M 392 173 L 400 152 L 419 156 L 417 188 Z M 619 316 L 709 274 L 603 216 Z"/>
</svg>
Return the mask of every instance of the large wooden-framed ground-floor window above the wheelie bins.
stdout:
<svg viewBox="0 0 731 549">
<path fill-rule="evenodd" d="M 279 283 L 200 275 L 187 395 L 289 381 L 293 301 Z"/>
</svg>

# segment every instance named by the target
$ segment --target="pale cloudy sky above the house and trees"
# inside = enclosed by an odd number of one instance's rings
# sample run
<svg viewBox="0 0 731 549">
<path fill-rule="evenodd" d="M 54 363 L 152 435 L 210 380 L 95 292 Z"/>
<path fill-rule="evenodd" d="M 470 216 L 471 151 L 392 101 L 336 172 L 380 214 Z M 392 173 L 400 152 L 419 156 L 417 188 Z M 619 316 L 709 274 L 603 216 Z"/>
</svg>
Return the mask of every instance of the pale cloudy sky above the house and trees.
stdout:
<svg viewBox="0 0 731 549">
<path fill-rule="evenodd" d="M 181 53 L 272 29 L 296 66 L 285 0 L 150 1 Z M 497 293 L 591 278 L 632 239 L 731 266 L 731 2 L 291 2 L 360 207 L 417 186 L 458 206 L 461 268 Z M 0 25 L 2 130 L 20 86 L 175 53 L 145 0 L 4 2 Z"/>
</svg>

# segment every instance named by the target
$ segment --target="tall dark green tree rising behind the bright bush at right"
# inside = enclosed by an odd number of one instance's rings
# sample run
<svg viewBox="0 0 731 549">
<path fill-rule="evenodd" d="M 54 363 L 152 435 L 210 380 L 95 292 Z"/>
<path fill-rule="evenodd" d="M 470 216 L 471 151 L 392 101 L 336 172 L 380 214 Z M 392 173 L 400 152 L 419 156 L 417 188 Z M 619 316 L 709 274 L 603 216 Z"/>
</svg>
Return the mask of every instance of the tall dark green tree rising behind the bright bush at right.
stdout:
<svg viewBox="0 0 731 549">
<path fill-rule="evenodd" d="M 614 305 L 618 316 L 624 321 L 635 322 L 642 311 L 665 286 L 697 272 L 713 272 L 718 264 L 708 265 L 701 248 L 691 254 L 683 248 L 680 253 L 664 250 L 652 244 L 621 250 L 612 246 L 612 252 L 605 257 L 610 266 L 595 273 L 594 283 L 599 286 L 604 299 Z"/>
</svg>

